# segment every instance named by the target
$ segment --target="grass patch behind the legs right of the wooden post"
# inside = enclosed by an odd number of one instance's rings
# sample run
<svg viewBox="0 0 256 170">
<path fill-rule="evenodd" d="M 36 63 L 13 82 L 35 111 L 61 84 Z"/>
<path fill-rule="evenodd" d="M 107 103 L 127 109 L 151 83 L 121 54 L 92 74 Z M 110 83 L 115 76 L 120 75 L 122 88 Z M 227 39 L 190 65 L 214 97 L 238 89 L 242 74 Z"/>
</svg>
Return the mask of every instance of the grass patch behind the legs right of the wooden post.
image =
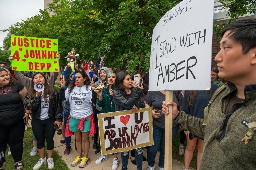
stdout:
<svg viewBox="0 0 256 170">
<path fill-rule="evenodd" d="M 180 145 L 180 131 L 177 132 L 176 137 L 172 143 L 172 158 L 178 161 L 181 161 L 184 164 L 184 155 L 179 155 L 179 145 Z M 187 140 L 185 141 L 184 146 L 187 145 Z M 190 167 L 197 169 L 197 148 L 194 150 L 194 155 L 190 163 Z"/>
</svg>

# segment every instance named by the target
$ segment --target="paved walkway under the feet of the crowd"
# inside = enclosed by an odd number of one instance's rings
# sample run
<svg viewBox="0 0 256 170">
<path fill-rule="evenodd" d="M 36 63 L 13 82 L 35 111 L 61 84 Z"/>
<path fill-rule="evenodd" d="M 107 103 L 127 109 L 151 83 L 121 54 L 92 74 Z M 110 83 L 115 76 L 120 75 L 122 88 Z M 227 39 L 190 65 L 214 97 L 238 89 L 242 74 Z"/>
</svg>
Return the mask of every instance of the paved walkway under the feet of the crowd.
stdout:
<svg viewBox="0 0 256 170">
<path fill-rule="evenodd" d="M 62 160 L 67 164 L 67 166 L 69 167 L 69 169 L 71 170 L 81 170 L 81 168 L 79 168 L 78 166 L 76 167 L 72 167 L 70 164 L 74 161 L 75 157 L 77 156 L 77 152 L 76 150 L 74 149 L 75 147 L 75 135 L 72 136 L 72 140 L 71 140 L 71 152 L 69 155 L 64 155 L 63 152 L 66 148 L 66 145 L 65 144 L 61 144 L 60 143 L 60 139 L 61 139 L 61 135 L 57 135 L 57 132 L 55 133 L 55 136 L 54 136 L 54 142 L 55 142 L 55 148 L 54 150 L 60 155 L 62 156 Z M 98 159 L 98 157 L 100 156 L 100 154 L 98 155 L 95 155 L 94 154 L 94 151 L 95 149 L 92 148 L 92 144 L 93 144 L 93 140 L 92 138 L 90 137 L 90 144 L 91 144 L 91 147 L 90 147 L 90 150 L 89 150 L 89 156 L 90 156 L 90 159 L 91 159 L 91 162 L 88 164 L 88 166 L 86 168 L 83 168 L 83 169 L 90 169 L 90 170 L 111 170 L 111 166 L 112 166 L 112 161 L 113 161 L 113 155 L 108 155 L 108 160 L 102 162 L 101 164 L 99 165 L 96 165 L 94 162 L 96 161 L 96 159 Z M 84 150 L 84 147 L 83 147 L 83 150 Z M 147 156 L 147 152 L 146 152 L 146 149 L 144 149 L 143 151 L 143 155 L 146 157 Z M 118 155 L 118 158 L 119 158 L 119 167 L 118 167 L 118 170 L 121 170 L 121 156 L 120 154 Z M 158 170 L 158 159 L 159 159 L 159 152 L 157 153 L 157 156 L 156 156 L 156 170 Z M 180 161 L 176 161 L 176 160 L 173 160 L 172 161 L 172 170 L 182 170 L 182 168 L 184 167 L 184 165 L 180 162 Z M 129 159 L 129 162 L 128 162 L 128 169 L 129 170 L 136 170 L 136 165 L 133 165 Z M 148 164 L 147 164 L 147 161 L 143 161 L 143 170 L 147 170 L 148 169 Z M 191 170 L 194 170 L 193 168 L 190 168 Z"/>
</svg>

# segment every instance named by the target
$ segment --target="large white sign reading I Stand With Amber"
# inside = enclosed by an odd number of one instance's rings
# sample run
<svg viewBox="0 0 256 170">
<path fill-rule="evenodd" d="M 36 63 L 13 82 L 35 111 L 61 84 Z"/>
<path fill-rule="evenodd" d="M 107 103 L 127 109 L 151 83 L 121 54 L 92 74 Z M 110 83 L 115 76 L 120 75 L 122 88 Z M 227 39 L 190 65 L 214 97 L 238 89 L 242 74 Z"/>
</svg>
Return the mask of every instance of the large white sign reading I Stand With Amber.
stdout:
<svg viewBox="0 0 256 170">
<path fill-rule="evenodd" d="M 153 30 L 149 90 L 210 89 L 213 1 L 183 0 Z"/>
</svg>

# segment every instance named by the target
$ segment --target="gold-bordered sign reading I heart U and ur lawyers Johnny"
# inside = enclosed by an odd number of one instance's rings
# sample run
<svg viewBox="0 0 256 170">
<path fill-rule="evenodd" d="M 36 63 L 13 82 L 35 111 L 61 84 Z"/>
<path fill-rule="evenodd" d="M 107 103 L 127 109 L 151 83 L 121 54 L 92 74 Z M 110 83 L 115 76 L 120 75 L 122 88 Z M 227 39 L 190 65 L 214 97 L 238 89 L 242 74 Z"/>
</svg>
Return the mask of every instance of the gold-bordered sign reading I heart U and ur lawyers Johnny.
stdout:
<svg viewBox="0 0 256 170">
<path fill-rule="evenodd" d="M 153 142 L 152 107 L 98 114 L 101 154 L 128 151 Z"/>
</svg>

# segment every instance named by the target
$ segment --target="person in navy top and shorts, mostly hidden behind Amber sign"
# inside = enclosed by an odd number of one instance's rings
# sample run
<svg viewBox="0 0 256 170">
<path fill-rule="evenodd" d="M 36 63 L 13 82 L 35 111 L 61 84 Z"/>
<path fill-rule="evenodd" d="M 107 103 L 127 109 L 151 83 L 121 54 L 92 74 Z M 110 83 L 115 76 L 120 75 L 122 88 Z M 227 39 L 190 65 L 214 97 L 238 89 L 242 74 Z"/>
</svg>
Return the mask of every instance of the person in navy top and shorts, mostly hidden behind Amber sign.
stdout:
<svg viewBox="0 0 256 170">
<path fill-rule="evenodd" d="M 181 110 L 191 116 L 203 119 L 204 108 L 209 104 L 211 96 L 217 88 L 217 85 L 211 83 L 211 89 L 207 91 L 185 91 Z M 198 169 L 201 159 L 201 153 L 203 150 L 204 139 L 190 134 L 190 132 L 186 131 L 186 129 L 184 129 L 184 132 L 187 137 L 187 147 L 185 150 L 185 168 L 183 168 L 183 170 L 189 169 L 196 145 Z"/>
</svg>

